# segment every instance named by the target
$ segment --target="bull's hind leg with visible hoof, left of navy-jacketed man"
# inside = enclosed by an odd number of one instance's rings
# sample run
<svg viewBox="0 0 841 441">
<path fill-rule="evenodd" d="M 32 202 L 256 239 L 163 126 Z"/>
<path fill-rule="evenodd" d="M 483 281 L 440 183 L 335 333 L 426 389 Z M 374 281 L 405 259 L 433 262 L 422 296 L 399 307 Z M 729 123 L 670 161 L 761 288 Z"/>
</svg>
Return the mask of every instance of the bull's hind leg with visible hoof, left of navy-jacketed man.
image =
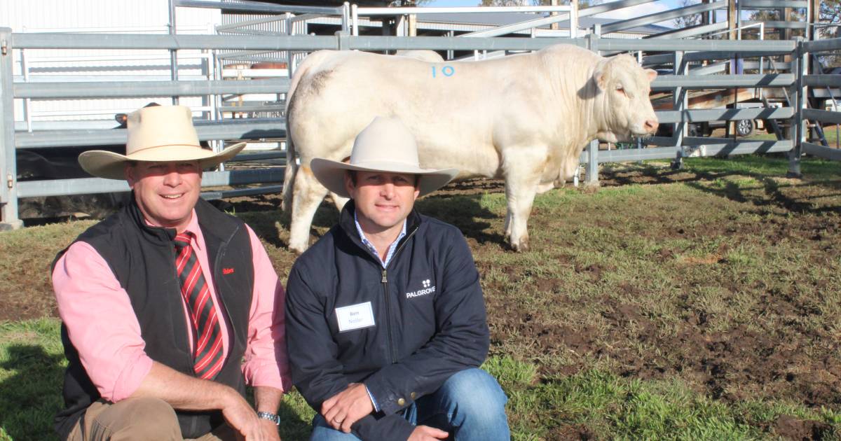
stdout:
<svg viewBox="0 0 841 441">
<path fill-rule="evenodd" d="M 315 179 L 309 165 L 301 165 L 295 176 L 293 191 L 289 250 L 300 254 L 309 247 L 309 227 L 315 210 L 327 195 L 327 189 Z"/>
</svg>

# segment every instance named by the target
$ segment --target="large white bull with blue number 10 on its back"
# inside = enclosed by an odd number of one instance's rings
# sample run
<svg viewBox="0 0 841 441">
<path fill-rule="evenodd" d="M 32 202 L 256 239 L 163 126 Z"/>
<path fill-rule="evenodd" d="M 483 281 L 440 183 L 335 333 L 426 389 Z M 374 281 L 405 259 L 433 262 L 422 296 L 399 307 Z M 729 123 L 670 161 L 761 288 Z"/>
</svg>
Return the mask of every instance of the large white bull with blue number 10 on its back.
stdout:
<svg viewBox="0 0 841 441">
<path fill-rule="evenodd" d="M 292 208 L 289 249 L 308 247 L 310 223 L 327 194 L 309 161 L 347 158 L 357 134 L 384 116 L 400 118 L 415 134 L 422 167 L 458 168 L 459 178 L 504 178 L 505 236 L 513 249 L 526 250 L 535 194 L 569 180 L 590 140 L 625 141 L 657 130 L 648 100 L 655 76 L 629 55 L 604 58 L 573 45 L 449 63 L 315 52 L 289 90 L 283 185 L 284 208 Z"/>
</svg>

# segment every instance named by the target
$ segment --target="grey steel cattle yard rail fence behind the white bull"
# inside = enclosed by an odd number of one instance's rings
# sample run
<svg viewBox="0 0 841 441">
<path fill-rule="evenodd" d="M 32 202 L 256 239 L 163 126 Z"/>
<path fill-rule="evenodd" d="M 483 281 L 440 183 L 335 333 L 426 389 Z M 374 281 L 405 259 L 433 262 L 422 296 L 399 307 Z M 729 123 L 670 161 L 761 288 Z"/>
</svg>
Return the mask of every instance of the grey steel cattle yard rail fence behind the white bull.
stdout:
<svg viewBox="0 0 841 441">
<path fill-rule="evenodd" d="M 661 75 L 653 82 L 654 91 L 670 91 L 674 110 L 658 111 L 660 123 L 674 124 L 671 137 L 653 137 L 645 144 L 653 147 L 627 150 L 602 150 L 598 143 L 581 156 L 588 165 L 590 183 L 598 179 L 598 163 L 632 160 L 673 159 L 690 155 L 741 155 L 751 153 L 789 152 L 790 171 L 800 173 L 801 154 L 841 160 L 841 150 L 806 141 L 806 121 L 841 123 L 841 113 L 805 108 L 809 87 L 841 87 L 841 75 L 807 75 L 810 54 L 841 50 L 841 39 L 819 41 L 800 40 L 703 40 L 703 39 L 605 39 L 599 29 L 577 39 L 523 38 L 458 38 L 458 37 L 392 37 L 356 36 L 342 31 L 335 36 L 287 35 L 267 38 L 260 35 L 174 35 L 174 34 L 13 34 L 0 28 L 0 227 L 21 225 L 18 200 L 24 197 L 64 196 L 98 192 L 124 192 L 128 186 L 122 181 L 98 178 L 62 179 L 49 181 L 18 181 L 16 150 L 42 149 L 57 146 L 91 146 L 124 144 L 125 129 L 59 129 L 15 130 L 15 99 L 76 99 L 95 97 L 217 97 L 223 94 L 284 93 L 288 78 L 253 79 L 245 81 L 69 81 L 20 82 L 13 78 L 13 51 L 29 49 L 121 49 L 121 50 L 254 50 L 254 51 L 311 51 L 311 50 L 539 50 L 547 45 L 567 43 L 579 45 L 602 54 L 617 51 L 658 51 L 666 54 L 674 66 L 674 75 Z M 729 60 L 733 57 L 789 55 L 788 73 L 762 75 L 686 75 L 689 60 Z M 664 55 L 653 55 L 663 58 Z M 791 103 L 782 108 L 732 108 L 689 110 L 686 92 L 712 88 L 784 88 Z M 786 139 L 738 140 L 729 138 L 701 138 L 686 135 L 688 123 L 705 121 L 736 121 L 742 119 L 787 120 L 792 130 Z M 241 118 L 221 121 L 197 121 L 199 139 L 266 139 L 283 138 L 283 118 Z M 221 143 L 216 143 L 220 148 Z M 243 154 L 235 160 L 261 160 L 282 157 L 282 153 Z M 204 175 L 204 186 L 240 186 L 278 183 L 283 181 L 282 167 L 252 170 L 221 170 Z M 227 192 L 235 196 L 257 192 L 278 191 L 279 186 L 261 186 Z M 219 196 L 219 195 L 217 195 Z"/>
</svg>

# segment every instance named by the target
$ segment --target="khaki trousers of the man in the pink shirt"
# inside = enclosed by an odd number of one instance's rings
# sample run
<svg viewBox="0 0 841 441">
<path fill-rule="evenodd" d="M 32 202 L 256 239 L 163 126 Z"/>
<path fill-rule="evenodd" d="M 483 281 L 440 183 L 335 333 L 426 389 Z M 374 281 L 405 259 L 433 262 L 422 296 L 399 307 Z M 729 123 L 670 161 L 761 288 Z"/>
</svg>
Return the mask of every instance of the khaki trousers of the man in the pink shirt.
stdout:
<svg viewBox="0 0 841 441">
<path fill-rule="evenodd" d="M 94 402 L 76 423 L 68 441 L 183 439 L 172 407 L 157 398 L 128 398 L 116 404 Z M 223 424 L 200 441 L 232 441 L 235 431 Z"/>
</svg>

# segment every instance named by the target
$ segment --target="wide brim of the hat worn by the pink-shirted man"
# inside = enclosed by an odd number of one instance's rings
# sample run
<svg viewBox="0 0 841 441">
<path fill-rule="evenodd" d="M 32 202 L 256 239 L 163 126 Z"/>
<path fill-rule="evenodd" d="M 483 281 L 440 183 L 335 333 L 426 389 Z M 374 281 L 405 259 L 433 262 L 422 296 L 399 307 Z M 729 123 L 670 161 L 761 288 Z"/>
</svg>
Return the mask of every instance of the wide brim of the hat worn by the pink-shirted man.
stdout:
<svg viewBox="0 0 841 441">
<path fill-rule="evenodd" d="M 90 150 L 79 155 L 79 165 L 92 176 L 105 179 L 125 179 L 124 168 L 128 161 L 146 162 L 176 162 L 198 160 L 202 170 L 219 165 L 230 160 L 246 147 L 246 143 L 231 145 L 219 153 L 212 150 L 197 148 L 194 145 L 167 145 L 156 149 L 140 150 L 134 155 L 126 156 L 108 150 Z M 161 152 L 166 149 L 166 155 Z"/>
</svg>

